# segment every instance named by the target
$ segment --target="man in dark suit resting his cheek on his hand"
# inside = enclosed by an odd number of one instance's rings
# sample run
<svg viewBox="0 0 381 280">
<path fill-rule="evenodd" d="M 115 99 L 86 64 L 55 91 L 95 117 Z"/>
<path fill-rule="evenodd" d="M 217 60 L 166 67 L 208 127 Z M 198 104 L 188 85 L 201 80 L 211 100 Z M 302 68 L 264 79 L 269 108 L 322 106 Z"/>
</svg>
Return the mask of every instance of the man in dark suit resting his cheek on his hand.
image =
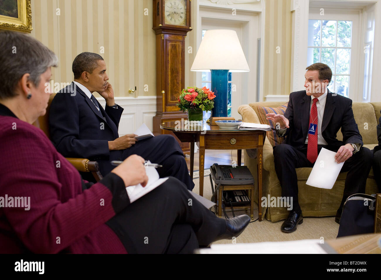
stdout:
<svg viewBox="0 0 381 280">
<path fill-rule="evenodd" d="M 106 63 L 99 54 L 78 54 L 72 70 L 74 82 L 56 94 L 49 114 L 50 136 L 62 155 L 96 160 L 104 176 L 115 167 L 112 160 L 137 154 L 163 165 L 157 169 L 160 177 L 173 176 L 189 190 L 194 188 L 184 154 L 173 136 L 158 135 L 139 142 L 135 134 L 118 136 L 123 108 L 115 104 Z M 105 109 L 93 96 L 94 91 L 106 100 Z"/>
</svg>

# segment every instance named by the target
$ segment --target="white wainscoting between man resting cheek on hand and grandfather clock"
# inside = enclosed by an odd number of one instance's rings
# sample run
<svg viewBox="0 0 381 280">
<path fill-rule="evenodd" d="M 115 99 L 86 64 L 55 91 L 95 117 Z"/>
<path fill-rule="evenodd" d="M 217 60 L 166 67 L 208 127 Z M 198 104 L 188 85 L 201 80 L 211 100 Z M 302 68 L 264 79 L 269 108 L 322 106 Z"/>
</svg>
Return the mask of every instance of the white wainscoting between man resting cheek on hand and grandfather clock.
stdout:
<svg viewBox="0 0 381 280">
<path fill-rule="evenodd" d="M 106 106 L 103 98 L 97 100 L 103 108 Z M 115 103 L 124 108 L 119 123 L 119 136 L 133 133 L 143 123 L 153 130 L 152 117 L 156 115 L 156 96 L 115 97 Z"/>
</svg>

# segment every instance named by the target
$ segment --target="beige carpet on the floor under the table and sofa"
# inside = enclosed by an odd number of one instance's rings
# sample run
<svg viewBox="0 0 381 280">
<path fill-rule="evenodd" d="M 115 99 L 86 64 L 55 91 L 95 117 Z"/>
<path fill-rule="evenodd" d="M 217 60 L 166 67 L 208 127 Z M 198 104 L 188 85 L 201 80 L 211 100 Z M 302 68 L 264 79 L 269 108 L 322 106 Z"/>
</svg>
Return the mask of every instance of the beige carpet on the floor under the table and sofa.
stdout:
<svg viewBox="0 0 381 280">
<path fill-rule="evenodd" d="M 199 179 L 194 179 L 195 187 L 193 192 L 200 193 Z M 209 176 L 204 177 L 203 196 L 211 198 L 211 186 Z M 258 218 L 258 205 L 255 203 L 254 219 Z M 227 211 L 229 217 L 232 217 L 231 211 Z M 235 215 L 245 214 L 245 210 L 235 211 Z M 249 213 L 248 213 L 249 214 Z M 266 241 L 290 241 L 301 239 L 321 239 L 328 240 L 336 238 L 339 225 L 335 222 L 335 217 L 307 217 L 303 218 L 303 224 L 298 225 L 295 232 L 285 233 L 280 230 L 283 221 L 271 222 L 264 219 L 259 222 L 251 222 L 239 237 L 235 239 L 236 243 L 266 242 Z M 232 240 L 220 240 L 216 244 L 231 244 Z"/>
</svg>

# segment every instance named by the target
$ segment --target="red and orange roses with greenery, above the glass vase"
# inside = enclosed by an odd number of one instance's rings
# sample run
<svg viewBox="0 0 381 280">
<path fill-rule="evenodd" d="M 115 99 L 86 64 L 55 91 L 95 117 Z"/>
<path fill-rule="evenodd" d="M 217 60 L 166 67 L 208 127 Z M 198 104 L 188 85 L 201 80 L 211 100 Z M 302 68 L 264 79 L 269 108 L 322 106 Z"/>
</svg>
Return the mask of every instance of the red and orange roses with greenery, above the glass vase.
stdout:
<svg viewBox="0 0 381 280">
<path fill-rule="evenodd" d="M 214 92 L 206 86 L 203 88 L 188 86 L 181 91 L 176 105 L 183 111 L 194 109 L 210 111 L 214 107 L 213 98 L 215 97 Z"/>
</svg>

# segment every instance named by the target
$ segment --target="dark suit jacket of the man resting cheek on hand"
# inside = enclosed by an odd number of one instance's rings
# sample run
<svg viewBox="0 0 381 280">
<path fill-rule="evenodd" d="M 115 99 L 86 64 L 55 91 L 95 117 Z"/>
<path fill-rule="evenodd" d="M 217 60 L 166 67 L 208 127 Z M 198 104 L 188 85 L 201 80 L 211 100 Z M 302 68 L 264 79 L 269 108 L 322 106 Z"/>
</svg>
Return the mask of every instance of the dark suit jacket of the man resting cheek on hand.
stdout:
<svg viewBox="0 0 381 280">
<path fill-rule="evenodd" d="M 99 106 L 86 94 L 71 85 L 59 91 L 51 102 L 49 113 L 50 138 L 64 157 L 96 160 L 101 173 L 112 170 L 111 160 L 121 160 L 122 151 L 110 151 L 108 141 L 118 138 L 118 125 L 123 108 Z M 74 88 L 75 95 L 70 93 Z"/>
</svg>

